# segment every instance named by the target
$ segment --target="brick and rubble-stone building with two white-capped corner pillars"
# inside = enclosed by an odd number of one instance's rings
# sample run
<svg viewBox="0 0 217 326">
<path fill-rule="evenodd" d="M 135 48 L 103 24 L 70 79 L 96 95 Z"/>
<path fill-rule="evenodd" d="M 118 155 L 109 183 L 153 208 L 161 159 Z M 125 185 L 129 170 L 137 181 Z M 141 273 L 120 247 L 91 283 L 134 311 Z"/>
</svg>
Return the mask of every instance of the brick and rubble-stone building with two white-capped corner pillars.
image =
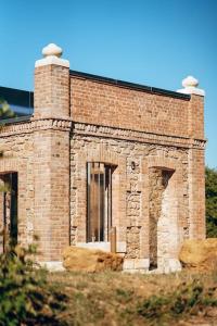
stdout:
<svg viewBox="0 0 217 326">
<path fill-rule="evenodd" d="M 178 269 L 183 239 L 205 237 L 197 80 L 168 91 L 69 71 L 54 45 L 42 53 L 34 114 L 0 128 L 1 227 L 23 244 L 36 234 L 49 267 L 68 244 L 111 250 L 113 234 L 126 269 Z"/>
</svg>

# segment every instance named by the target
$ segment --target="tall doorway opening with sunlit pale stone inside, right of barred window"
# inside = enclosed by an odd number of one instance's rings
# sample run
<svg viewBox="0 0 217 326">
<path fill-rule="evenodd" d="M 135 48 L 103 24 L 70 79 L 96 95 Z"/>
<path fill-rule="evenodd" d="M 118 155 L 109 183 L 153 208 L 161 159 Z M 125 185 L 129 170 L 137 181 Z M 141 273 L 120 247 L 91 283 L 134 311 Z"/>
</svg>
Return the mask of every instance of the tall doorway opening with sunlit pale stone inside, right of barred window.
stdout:
<svg viewBox="0 0 217 326">
<path fill-rule="evenodd" d="M 178 246 L 177 191 L 175 170 L 149 170 L 150 269 L 165 269 L 176 259 Z"/>
</svg>

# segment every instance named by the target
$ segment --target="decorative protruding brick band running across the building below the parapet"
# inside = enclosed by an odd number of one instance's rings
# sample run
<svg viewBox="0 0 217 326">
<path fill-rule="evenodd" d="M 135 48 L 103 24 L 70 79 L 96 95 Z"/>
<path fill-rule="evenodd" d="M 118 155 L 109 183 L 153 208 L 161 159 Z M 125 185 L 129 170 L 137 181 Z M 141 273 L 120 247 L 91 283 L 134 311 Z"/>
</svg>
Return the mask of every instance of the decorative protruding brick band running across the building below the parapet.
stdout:
<svg viewBox="0 0 217 326">
<path fill-rule="evenodd" d="M 181 148 L 204 149 L 206 140 L 191 139 L 187 137 L 157 135 L 145 131 L 137 131 L 123 128 L 114 128 L 108 126 L 98 126 L 84 123 L 74 123 L 72 120 L 61 118 L 42 118 L 31 120 L 25 123 L 2 126 L 0 136 L 13 136 L 28 134 L 35 130 L 58 129 L 73 131 L 77 135 L 88 135 L 93 137 L 105 137 L 114 139 L 125 139 L 128 141 L 139 141 L 155 145 L 167 145 Z"/>
</svg>

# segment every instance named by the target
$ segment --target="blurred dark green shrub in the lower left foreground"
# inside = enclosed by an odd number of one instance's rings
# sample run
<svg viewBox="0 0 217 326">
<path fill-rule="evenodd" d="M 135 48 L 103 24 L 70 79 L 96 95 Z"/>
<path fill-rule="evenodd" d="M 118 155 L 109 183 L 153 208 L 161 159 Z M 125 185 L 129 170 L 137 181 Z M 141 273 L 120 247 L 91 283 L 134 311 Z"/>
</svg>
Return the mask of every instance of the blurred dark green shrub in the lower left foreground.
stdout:
<svg viewBox="0 0 217 326">
<path fill-rule="evenodd" d="M 58 313 L 66 297 L 47 283 L 34 263 L 36 247 L 16 247 L 0 255 L 0 325 L 66 325 Z"/>
</svg>

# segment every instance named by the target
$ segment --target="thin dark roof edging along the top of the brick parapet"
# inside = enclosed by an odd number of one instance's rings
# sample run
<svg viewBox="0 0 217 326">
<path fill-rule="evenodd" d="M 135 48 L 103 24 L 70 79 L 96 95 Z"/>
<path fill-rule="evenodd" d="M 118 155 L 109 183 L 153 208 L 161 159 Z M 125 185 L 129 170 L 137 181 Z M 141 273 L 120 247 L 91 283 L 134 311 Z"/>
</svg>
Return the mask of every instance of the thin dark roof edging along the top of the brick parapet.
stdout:
<svg viewBox="0 0 217 326">
<path fill-rule="evenodd" d="M 176 98 L 176 99 L 190 100 L 190 98 L 191 98 L 190 95 L 180 93 L 177 91 L 166 90 L 166 89 L 162 89 L 162 88 L 135 84 L 135 83 L 129 83 L 129 82 L 124 82 L 124 80 L 118 80 L 118 79 L 113 79 L 113 78 L 107 78 L 107 77 L 81 73 L 81 72 L 77 72 L 77 71 L 71 71 L 69 73 L 71 73 L 71 76 L 76 76 L 76 77 L 80 77 L 84 79 L 91 79 L 91 80 L 95 80 L 95 82 L 116 85 L 119 87 L 131 88 L 131 89 L 139 90 L 139 91 L 145 91 L 145 92 L 151 92 L 151 93 L 155 93 L 155 95 L 167 96 L 167 97 L 171 97 L 171 98 Z"/>
</svg>

